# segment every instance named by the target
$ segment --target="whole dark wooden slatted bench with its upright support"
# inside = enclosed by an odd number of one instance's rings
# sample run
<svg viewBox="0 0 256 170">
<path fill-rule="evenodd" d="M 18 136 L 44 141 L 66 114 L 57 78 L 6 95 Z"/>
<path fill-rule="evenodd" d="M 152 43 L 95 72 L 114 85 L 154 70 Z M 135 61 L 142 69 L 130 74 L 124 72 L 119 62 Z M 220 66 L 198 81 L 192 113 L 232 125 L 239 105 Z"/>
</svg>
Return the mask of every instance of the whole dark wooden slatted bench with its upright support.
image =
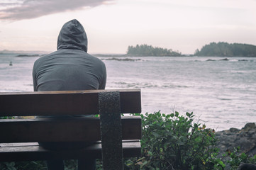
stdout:
<svg viewBox="0 0 256 170">
<path fill-rule="evenodd" d="M 100 115 L 99 117 L 0 119 L 0 162 L 102 159 L 123 169 L 123 157 L 140 157 L 140 89 L 0 93 L 0 116 Z M 37 142 L 88 142 L 84 149 L 54 151 Z"/>
</svg>

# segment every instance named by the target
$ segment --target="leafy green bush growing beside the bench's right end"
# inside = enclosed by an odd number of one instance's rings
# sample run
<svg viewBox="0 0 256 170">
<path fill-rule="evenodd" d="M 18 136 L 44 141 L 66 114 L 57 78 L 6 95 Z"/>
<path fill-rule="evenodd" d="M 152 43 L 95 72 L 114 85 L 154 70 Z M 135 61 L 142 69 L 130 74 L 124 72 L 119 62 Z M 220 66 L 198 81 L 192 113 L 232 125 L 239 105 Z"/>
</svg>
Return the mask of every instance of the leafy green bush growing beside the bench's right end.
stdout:
<svg viewBox="0 0 256 170">
<path fill-rule="evenodd" d="M 142 117 L 142 157 L 128 159 L 129 169 L 223 169 L 211 129 L 194 122 L 194 114 L 146 113 Z"/>
</svg>

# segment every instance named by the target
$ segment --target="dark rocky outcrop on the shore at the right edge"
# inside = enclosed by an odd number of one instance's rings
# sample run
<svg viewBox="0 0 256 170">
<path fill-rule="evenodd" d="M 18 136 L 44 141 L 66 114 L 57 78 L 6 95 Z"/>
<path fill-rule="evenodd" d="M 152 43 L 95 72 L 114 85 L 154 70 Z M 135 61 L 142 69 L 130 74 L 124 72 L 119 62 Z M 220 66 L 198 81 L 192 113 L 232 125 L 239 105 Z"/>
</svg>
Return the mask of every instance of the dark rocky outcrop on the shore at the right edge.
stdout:
<svg viewBox="0 0 256 170">
<path fill-rule="evenodd" d="M 241 130 L 230 128 L 216 132 L 218 144 L 216 147 L 220 149 L 220 155 L 230 150 L 233 152 L 235 147 L 240 147 L 240 152 L 245 154 L 256 154 L 256 125 L 255 123 L 247 123 Z"/>
</svg>

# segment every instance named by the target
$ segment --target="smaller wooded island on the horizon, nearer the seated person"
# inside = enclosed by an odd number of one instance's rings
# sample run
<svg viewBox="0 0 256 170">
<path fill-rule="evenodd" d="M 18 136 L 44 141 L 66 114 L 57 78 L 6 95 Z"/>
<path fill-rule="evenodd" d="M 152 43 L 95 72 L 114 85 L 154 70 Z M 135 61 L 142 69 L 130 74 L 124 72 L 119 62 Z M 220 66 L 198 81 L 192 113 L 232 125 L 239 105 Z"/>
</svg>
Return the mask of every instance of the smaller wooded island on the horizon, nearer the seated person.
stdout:
<svg viewBox="0 0 256 170">
<path fill-rule="evenodd" d="M 152 45 L 128 46 L 127 56 L 182 56 L 181 52 L 162 47 L 152 47 Z"/>
</svg>

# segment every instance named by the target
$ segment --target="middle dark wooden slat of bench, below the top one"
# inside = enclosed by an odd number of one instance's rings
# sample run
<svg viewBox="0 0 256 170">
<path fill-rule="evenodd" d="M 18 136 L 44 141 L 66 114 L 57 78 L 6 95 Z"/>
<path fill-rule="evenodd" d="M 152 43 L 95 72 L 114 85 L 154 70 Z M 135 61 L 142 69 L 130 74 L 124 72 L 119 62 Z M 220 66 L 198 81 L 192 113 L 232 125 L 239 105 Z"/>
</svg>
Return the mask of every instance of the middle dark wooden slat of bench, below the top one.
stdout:
<svg viewBox="0 0 256 170">
<path fill-rule="evenodd" d="M 123 140 L 140 139 L 140 116 L 122 116 L 121 123 Z M 99 118 L 0 120 L 0 142 L 96 141 L 99 124 Z"/>
</svg>

